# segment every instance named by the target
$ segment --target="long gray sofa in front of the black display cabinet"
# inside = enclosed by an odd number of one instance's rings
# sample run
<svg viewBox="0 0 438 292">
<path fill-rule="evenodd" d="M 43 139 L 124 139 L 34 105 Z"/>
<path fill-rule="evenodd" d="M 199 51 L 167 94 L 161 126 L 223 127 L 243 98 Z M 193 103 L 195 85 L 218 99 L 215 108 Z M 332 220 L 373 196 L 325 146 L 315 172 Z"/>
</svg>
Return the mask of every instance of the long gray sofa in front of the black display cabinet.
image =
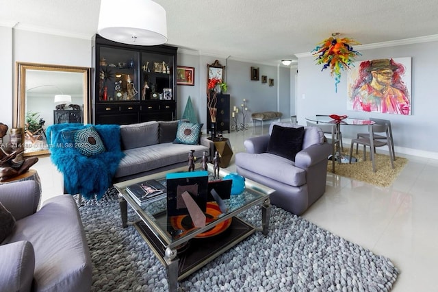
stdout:
<svg viewBox="0 0 438 292">
<path fill-rule="evenodd" d="M 201 136 L 199 145 L 174 144 L 178 121 L 149 121 L 120 125 L 120 139 L 125 153 L 118 165 L 114 182 L 139 178 L 151 173 L 166 171 L 188 165 L 188 154 L 202 157 L 207 151 L 209 157 L 214 143 Z"/>
</svg>

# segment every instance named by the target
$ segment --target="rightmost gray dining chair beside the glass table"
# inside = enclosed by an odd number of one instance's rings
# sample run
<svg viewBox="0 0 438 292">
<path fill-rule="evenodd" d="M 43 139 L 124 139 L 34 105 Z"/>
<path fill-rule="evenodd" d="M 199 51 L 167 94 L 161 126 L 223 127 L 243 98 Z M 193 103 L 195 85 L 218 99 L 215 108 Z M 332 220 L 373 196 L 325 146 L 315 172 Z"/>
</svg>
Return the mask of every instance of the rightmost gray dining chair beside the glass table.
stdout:
<svg viewBox="0 0 438 292">
<path fill-rule="evenodd" d="M 375 133 L 385 133 L 386 138 L 385 139 L 376 139 L 371 138 L 374 137 Z M 348 161 L 351 163 L 351 157 L 353 153 L 353 147 L 355 143 L 357 145 L 361 144 L 363 145 L 363 160 L 365 161 L 365 154 L 366 154 L 366 147 L 370 147 L 370 158 L 372 160 L 372 171 L 376 172 L 376 147 L 383 147 L 387 146 L 389 150 L 389 158 L 391 160 L 391 166 L 394 169 L 394 153 L 392 151 L 392 145 L 391 145 L 391 139 L 389 138 L 389 127 L 387 124 L 380 125 L 380 124 L 374 124 L 374 125 L 368 125 L 368 137 L 367 138 L 356 138 L 351 140 L 351 147 L 350 147 L 350 160 Z M 383 135 L 381 135 L 383 136 Z"/>
</svg>

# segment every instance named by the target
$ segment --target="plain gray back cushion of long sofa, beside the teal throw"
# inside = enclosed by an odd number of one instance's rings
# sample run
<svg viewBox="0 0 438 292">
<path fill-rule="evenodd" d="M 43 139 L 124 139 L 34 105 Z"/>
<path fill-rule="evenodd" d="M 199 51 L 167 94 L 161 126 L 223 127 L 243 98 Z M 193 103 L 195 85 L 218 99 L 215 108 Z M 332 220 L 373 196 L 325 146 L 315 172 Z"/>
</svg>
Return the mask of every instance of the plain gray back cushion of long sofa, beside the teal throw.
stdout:
<svg viewBox="0 0 438 292">
<path fill-rule="evenodd" d="M 120 125 L 123 149 L 133 149 L 159 143 L 157 121 Z"/>
</svg>

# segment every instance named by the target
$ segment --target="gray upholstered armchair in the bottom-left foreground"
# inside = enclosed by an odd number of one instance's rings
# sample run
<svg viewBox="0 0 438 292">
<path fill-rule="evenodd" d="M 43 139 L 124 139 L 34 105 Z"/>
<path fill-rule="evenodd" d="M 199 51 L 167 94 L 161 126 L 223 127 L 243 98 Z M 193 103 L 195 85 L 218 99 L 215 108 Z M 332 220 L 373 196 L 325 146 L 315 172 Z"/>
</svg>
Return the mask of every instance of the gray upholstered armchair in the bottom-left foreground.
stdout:
<svg viewBox="0 0 438 292">
<path fill-rule="evenodd" d="M 90 291 L 92 263 L 75 200 L 48 199 L 40 210 L 33 180 L 0 185 L 16 220 L 0 243 L 0 291 Z"/>
</svg>

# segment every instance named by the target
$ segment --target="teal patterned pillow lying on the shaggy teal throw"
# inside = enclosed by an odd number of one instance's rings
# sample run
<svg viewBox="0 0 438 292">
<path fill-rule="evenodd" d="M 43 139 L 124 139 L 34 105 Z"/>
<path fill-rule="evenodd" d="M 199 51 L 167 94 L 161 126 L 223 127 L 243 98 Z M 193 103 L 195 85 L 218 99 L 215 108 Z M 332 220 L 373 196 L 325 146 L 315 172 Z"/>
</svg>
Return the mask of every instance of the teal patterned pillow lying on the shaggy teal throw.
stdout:
<svg viewBox="0 0 438 292">
<path fill-rule="evenodd" d="M 101 140 L 101 136 L 94 127 L 87 127 L 83 130 L 75 131 L 75 149 L 80 154 L 85 156 L 93 156 L 105 152 L 105 145 Z"/>
</svg>

